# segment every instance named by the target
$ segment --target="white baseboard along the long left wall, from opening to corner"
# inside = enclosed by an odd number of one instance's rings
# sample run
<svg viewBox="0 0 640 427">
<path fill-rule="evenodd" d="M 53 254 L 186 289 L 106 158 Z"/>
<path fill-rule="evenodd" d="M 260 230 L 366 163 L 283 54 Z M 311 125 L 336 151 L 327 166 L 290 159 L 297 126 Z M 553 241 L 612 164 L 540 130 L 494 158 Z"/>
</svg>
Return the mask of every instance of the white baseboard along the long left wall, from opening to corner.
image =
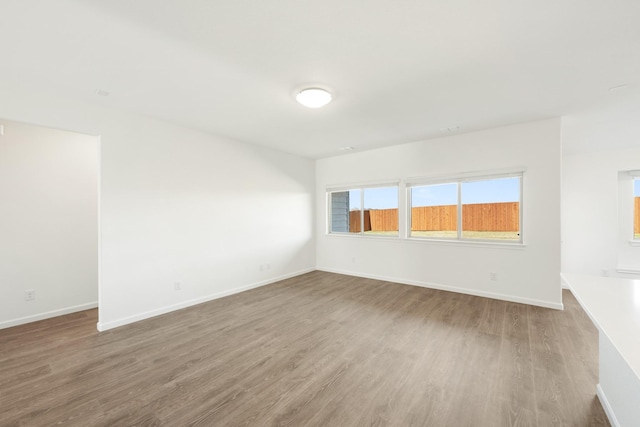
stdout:
<svg viewBox="0 0 640 427">
<path fill-rule="evenodd" d="M 291 277 L 300 276 L 314 271 L 315 268 L 307 268 L 304 270 L 296 271 L 294 273 L 285 274 L 283 276 L 273 277 L 271 279 L 263 280 L 260 282 L 251 283 L 249 285 L 240 286 L 238 288 L 228 289 L 226 291 L 217 292 L 215 294 L 207 295 L 200 298 L 191 299 L 188 301 L 182 301 L 178 304 L 169 305 L 166 307 L 158 308 L 156 310 L 147 311 L 145 313 L 136 314 L 135 316 L 123 317 L 121 319 L 112 320 L 110 322 L 98 322 L 98 330 L 106 331 L 108 329 L 117 328 L 119 326 L 128 325 L 129 323 L 138 322 L 140 320 L 149 319 L 151 317 L 160 316 L 161 314 L 170 313 L 182 308 L 191 307 L 193 305 L 202 304 L 204 302 L 212 301 L 214 299 L 226 297 L 229 295 L 237 294 L 240 292 L 248 291 L 249 289 L 259 288 L 260 286 L 270 285 L 271 283 L 279 282 L 280 280 L 290 279 Z"/>
</svg>

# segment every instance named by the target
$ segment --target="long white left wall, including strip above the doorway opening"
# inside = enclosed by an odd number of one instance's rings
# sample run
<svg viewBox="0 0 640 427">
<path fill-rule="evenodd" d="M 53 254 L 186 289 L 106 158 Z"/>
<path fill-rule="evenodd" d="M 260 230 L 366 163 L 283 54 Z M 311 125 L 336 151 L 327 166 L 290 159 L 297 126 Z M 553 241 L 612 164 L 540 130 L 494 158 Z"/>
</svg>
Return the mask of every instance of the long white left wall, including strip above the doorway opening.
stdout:
<svg viewBox="0 0 640 427">
<path fill-rule="evenodd" d="M 0 90 L 0 117 L 100 135 L 100 329 L 313 269 L 311 160 Z"/>
</svg>

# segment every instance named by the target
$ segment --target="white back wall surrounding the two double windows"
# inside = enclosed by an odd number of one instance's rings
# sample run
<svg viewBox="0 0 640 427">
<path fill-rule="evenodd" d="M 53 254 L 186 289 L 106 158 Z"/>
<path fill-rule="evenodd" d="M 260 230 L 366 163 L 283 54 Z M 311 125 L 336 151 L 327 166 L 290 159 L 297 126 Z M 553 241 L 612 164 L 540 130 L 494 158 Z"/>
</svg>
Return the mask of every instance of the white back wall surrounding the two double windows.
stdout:
<svg viewBox="0 0 640 427">
<path fill-rule="evenodd" d="M 560 155 L 560 120 L 553 119 L 319 160 L 317 267 L 561 308 Z M 326 234 L 328 186 L 518 167 L 526 169 L 525 247 Z"/>
</svg>

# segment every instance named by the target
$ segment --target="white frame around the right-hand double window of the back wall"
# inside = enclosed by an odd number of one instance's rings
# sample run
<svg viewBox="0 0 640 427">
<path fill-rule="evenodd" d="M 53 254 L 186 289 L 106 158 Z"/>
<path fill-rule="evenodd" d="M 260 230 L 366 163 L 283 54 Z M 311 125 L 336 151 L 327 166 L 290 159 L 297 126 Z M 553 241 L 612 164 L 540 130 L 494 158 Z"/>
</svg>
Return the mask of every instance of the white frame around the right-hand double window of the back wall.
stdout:
<svg viewBox="0 0 640 427">
<path fill-rule="evenodd" d="M 407 239 L 418 241 L 430 241 L 430 242 L 451 242 L 451 243 L 479 243 L 479 244 L 500 244 L 510 246 L 524 246 L 524 175 L 523 169 L 505 171 L 499 173 L 487 173 L 487 174 L 464 174 L 453 177 L 442 177 L 433 179 L 414 179 L 409 180 L 406 183 L 406 210 L 407 210 L 407 222 L 406 222 L 406 236 Z M 505 178 L 518 178 L 519 179 L 519 209 L 518 209 L 518 228 L 519 238 L 518 240 L 506 240 L 506 239 L 478 239 L 463 236 L 463 212 L 462 207 L 462 184 L 467 182 L 479 182 L 479 181 L 492 181 Z M 442 184 L 456 184 L 457 188 L 457 223 L 456 223 L 456 237 L 428 237 L 428 236 L 415 236 L 412 235 L 411 223 L 413 213 L 412 202 L 412 189 L 417 187 L 427 187 L 430 185 L 442 185 Z"/>
</svg>

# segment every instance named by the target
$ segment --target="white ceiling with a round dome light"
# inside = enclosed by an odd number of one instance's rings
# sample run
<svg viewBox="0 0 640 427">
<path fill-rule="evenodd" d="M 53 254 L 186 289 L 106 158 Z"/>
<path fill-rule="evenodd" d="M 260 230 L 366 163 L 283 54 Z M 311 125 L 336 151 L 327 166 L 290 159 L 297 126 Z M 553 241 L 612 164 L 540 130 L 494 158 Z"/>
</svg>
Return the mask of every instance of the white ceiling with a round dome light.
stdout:
<svg viewBox="0 0 640 427">
<path fill-rule="evenodd" d="M 639 0 L 1 6 L 2 79 L 312 158 L 640 109 Z M 334 101 L 298 105 L 307 83 Z"/>
</svg>

